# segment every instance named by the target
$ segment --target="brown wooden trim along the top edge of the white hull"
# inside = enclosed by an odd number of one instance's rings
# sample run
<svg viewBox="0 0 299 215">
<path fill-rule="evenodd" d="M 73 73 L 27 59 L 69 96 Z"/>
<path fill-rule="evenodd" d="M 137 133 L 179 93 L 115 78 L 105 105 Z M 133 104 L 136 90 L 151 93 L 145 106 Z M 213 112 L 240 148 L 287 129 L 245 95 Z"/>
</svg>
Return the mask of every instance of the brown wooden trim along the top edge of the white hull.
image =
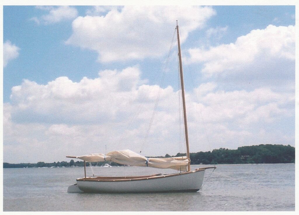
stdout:
<svg viewBox="0 0 299 215">
<path fill-rule="evenodd" d="M 124 177 L 101 177 L 100 176 L 100 177 L 95 177 L 95 178 L 81 178 L 81 179 L 76 179 L 76 180 L 77 181 L 86 181 L 86 182 L 141 181 L 141 180 L 159 179 L 159 178 L 185 175 L 185 174 L 195 173 L 195 172 L 199 172 L 199 171 L 204 171 L 206 169 L 216 169 L 216 167 L 203 167 L 203 168 L 198 168 L 196 170 L 192 170 L 192 171 L 189 171 L 189 172 L 173 173 L 173 174 L 168 174 L 168 175 L 155 174 L 155 175 L 149 175 L 149 176 L 124 176 Z M 181 192 L 181 191 L 178 191 L 178 192 Z"/>
</svg>

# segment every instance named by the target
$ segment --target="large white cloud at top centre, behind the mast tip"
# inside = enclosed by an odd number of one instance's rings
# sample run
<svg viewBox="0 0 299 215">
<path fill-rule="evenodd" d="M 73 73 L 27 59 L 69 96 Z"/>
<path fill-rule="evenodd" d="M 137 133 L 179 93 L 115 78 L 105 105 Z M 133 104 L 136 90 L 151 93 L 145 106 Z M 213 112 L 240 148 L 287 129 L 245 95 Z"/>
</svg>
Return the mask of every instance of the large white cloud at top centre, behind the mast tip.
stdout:
<svg viewBox="0 0 299 215">
<path fill-rule="evenodd" d="M 216 14 L 211 7 L 198 6 L 109 9 L 106 15 L 75 19 L 73 33 L 66 43 L 96 51 L 101 62 L 157 57 L 168 51 L 176 20 L 179 20 L 181 42 L 184 42 L 189 32 L 202 28 Z M 95 10 L 103 12 L 107 7 Z"/>
</svg>

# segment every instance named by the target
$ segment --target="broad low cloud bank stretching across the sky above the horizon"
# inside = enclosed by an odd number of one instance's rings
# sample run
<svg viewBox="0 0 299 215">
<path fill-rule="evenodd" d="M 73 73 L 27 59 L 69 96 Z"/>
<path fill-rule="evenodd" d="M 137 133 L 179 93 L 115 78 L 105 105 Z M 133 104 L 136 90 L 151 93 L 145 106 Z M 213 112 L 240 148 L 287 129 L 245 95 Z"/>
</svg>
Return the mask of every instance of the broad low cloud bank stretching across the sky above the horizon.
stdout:
<svg viewBox="0 0 299 215">
<path fill-rule="evenodd" d="M 59 77 L 46 85 L 24 80 L 13 87 L 11 103 L 4 104 L 4 161 L 12 161 L 16 147 L 18 153 L 30 149 L 45 161 L 101 153 L 105 145 L 152 156 L 184 152 L 179 92 L 148 85 L 140 74 L 133 66 L 100 71 L 99 77 L 80 82 Z M 292 144 L 294 134 L 284 133 L 284 121 L 292 120 L 294 101 L 294 94 L 269 88 L 224 92 L 216 83 L 203 83 L 186 94 L 190 149 Z"/>
</svg>

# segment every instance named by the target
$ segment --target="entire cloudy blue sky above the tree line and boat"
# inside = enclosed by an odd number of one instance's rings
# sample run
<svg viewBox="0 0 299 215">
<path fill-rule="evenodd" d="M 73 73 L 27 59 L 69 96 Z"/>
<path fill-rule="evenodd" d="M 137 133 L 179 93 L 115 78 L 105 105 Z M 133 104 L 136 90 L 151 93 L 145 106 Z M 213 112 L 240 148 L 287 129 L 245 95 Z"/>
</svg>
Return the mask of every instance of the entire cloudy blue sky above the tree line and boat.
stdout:
<svg viewBox="0 0 299 215">
<path fill-rule="evenodd" d="M 4 6 L 4 162 L 184 152 L 176 19 L 191 152 L 295 146 L 295 6 Z"/>
</svg>

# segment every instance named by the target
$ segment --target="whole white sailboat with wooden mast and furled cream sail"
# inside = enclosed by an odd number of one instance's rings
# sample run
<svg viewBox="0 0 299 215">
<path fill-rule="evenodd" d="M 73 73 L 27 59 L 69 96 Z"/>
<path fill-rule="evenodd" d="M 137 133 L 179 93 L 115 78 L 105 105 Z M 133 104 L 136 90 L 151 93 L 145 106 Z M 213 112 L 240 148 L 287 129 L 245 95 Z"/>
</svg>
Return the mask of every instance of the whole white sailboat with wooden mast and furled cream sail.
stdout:
<svg viewBox="0 0 299 215">
<path fill-rule="evenodd" d="M 147 158 L 131 150 L 112 151 L 107 154 L 89 154 L 82 156 L 66 156 L 79 158 L 84 161 L 84 178 L 76 179 L 77 183 L 68 187 L 68 192 L 96 192 L 96 193 L 133 193 L 133 192 L 197 192 L 202 187 L 205 170 L 216 167 L 190 169 L 190 153 L 188 142 L 187 117 L 185 107 L 183 68 L 181 61 L 181 47 L 179 26 L 176 25 L 179 70 L 181 79 L 181 95 L 184 113 L 184 128 L 187 153 L 182 157 Z M 147 176 L 123 177 L 86 177 L 86 162 L 112 161 L 119 164 L 140 167 L 154 167 L 161 169 L 180 170 L 180 173 L 154 174 Z"/>
</svg>

